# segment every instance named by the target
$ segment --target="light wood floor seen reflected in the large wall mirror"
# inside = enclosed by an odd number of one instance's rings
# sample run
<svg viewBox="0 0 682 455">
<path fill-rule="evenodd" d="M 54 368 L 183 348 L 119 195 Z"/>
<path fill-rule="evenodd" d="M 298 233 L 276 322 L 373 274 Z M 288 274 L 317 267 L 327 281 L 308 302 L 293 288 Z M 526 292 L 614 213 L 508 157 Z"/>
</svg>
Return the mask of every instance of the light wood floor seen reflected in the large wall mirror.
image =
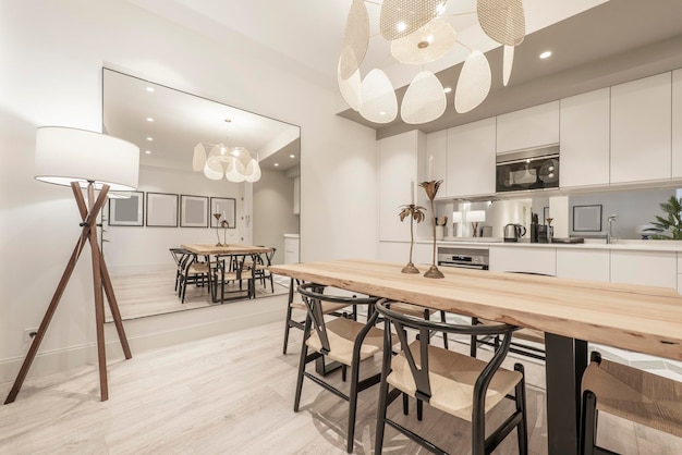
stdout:
<svg viewBox="0 0 682 455">
<path fill-rule="evenodd" d="M 174 268 L 135 274 L 112 274 L 111 284 L 119 303 L 121 317 L 124 320 L 221 305 L 210 302 L 207 287 L 198 287 L 194 284 L 187 287 L 185 302 L 182 304 L 178 293 L 174 291 Z M 275 276 L 273 284 L 275 292 L 270 288 L 269 280 L 266 280 L 265 286 L 260 281 L 256 281 L 256 298 L 289 293 L 289 279 L 282 280 L 279 276 Z M 245 285 L 246 283 L 244 283 Z M 239 285 L 232 284 L 228 290 L 236 292 L 239 291 Z M 234 294 L 234 296 L 239 295 L 240 293 Z M 241 293 L 241 295 L 246 298 L 245 292 Z M 105 307 L 106 321 L 111 322 L 111 312 L 108 306 Z"/>
</svg>

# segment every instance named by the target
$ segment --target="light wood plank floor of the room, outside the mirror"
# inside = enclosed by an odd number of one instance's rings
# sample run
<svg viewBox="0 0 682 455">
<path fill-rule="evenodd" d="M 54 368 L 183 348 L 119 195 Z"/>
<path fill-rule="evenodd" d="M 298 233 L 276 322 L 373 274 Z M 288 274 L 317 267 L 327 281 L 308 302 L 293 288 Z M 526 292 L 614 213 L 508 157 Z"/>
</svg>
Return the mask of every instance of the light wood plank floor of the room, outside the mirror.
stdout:
<svg viewBox="0 0 682 455">
<path fill-rule="evenodd" d="M 272 298 L 285 305 L 285 296 Z M 17 401 L 0 406 L 0 454 L 345 453 L 345 402 L 306 380 L 303 407 L 293 413 L 301 332 L 292 329 L 288 355 L 281 353 L 282 332 L 283 321 L 110 360 L 105 403 L 95 366 L 28 378 Z M 544 367 L 524 364 L 531 453 L 547 454 Z M 376 368 L 368 360 L 361 377 Z M 10 386 L 0 384 L 0 395 Z M 377 392 L 361 395 L 356 454 L 374 452 Z M 402 418 L 400 403 L 391 414 Z M 423 422 L 414 408 L 402 420 L 454 454 L 468 453 L 468 428 L 454 418 L 425 406 Z M 682 453 L 680 441 L 667 434 L 604 414 L 599 423 L 604 443 L 623 454 Z M 391 429 L 385 441 L 386 453 L 425 453 Z M 515 454 L 515 435 L 495 453 Z"/>
</svg>

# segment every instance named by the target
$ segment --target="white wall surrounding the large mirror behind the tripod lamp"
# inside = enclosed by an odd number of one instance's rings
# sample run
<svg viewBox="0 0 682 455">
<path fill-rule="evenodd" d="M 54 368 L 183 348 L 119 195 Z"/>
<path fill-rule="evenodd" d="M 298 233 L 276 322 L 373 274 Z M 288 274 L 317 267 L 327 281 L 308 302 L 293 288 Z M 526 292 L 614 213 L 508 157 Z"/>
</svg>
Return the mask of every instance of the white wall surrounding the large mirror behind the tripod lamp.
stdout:
<svg viewBox="0 0 682 455">
<path fill-rule="evenodd" d="M 27 351 L 23 330 L 38 325 L 80 234 L 71 190 L 33 180 L 35 128 L 101 131 L 103 65 L 300 125 L 302 260 L 376 256 L 375 132 L 334 116 L 338 95 L 283 63 L 239 35 L 218 45 L 124 1 L 0 0 L 0 380 L 16 373 Z M 61 353 L 58 368 L 95 358 L 83 349 L 95 340 L 88 269 L 86 249 L 40 349 Z M 284 311 L 258 305 L 260 320 Z M 203 324 L 234 320 L 234 311 L 166 315 L 162 328 L 154 318 L 136 321 L 131 336 L 200 336 L 210 333 Z M 153 344 L 133 340 L 137 348 Z"/>
</svg>

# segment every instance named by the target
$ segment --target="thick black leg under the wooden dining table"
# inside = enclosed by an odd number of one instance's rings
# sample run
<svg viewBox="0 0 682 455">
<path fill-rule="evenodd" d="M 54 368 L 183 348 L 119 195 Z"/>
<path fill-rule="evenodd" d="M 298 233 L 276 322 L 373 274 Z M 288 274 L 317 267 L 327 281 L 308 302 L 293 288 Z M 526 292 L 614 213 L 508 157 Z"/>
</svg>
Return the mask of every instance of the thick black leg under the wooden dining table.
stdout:
<svg viewBox="0 0 682 455">
<path fill-rule="evenodd" d="M 579 448 L 581 378 L 587 367 L 587 343 L 545 334 L 547 373 L 547 444 L 552 455 Z"/>
</svg>

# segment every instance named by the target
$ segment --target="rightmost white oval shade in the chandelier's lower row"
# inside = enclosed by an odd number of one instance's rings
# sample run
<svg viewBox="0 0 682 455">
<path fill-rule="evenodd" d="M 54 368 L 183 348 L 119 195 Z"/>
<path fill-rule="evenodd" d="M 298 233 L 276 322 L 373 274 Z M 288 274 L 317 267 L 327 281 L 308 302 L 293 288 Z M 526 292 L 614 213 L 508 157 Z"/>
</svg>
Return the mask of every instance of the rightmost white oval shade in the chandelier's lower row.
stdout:
<svg viewBox="0 0 682 455">
<path fill-rule="evenodd" d="M 476 108 L 488 96 L 491 82 L 488 59 L 479 50 L 472 51 L 462 65 L 454 93 L 454 109 L 464 113 Z"/>
</svg>

